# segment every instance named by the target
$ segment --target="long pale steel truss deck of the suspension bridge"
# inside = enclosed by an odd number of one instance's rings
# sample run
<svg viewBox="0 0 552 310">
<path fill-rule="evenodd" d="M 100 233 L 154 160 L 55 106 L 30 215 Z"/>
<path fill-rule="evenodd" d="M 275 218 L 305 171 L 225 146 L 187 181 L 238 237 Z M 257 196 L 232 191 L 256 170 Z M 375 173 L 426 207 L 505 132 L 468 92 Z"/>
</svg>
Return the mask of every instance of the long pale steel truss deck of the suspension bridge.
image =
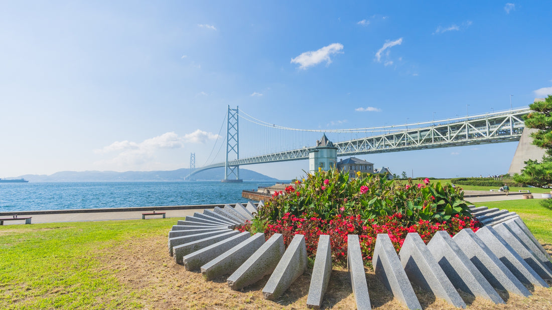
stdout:
<svg viewBox="0 0 552 310">
<path fill-rule="evenodd" d="M 519 141 L 525 127 L 522 116 L 529 112 L 529 108 L 519 108 L 506 112 L 493 112 L 484 115 L 437 121 L 439 123 L 437 125 L 433 121 L 429 121 L 410 125 L 381 127 L 382 131 L 385 130 L 388 133 L 337 142 L 334 145 L 337 147 L 337 156 L 351 156 Z M 402 130 L 401 128 L 405 126 L 406 128 Z M 407 129 L 408 126 L 411 129 Z M 314 146 L 311 148 L 229 160 L 228 165 L 241 166 L 265 162 L 304 160 L 309 159 L 309 152 L 312 149 L 314 149 Z M 190 175 L 224 166 L 225 162 L 219 162 L 200 167 Z"/>
</svg>

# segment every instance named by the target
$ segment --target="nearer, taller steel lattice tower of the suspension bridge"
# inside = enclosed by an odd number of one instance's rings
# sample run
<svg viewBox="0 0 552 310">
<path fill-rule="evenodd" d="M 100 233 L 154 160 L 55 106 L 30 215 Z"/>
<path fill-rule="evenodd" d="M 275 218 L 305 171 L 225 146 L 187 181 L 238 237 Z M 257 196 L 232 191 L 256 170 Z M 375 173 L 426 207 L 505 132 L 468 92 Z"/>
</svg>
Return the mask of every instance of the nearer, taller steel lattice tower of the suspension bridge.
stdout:
<svg viewBox="0 0 552 310">
<path fill-rule="evenodd" d="M 238 107 L 230 108 L 230 106 L 228 106 L 228 114 L 226 117 L 226 162 L 224 165 L 224 180 L 222 180 L 222 182 L 242 182 L 240 179 L 240 166 L 228 165 L 228 155 L 235 153 L 236 159 L 240 159 L 240 137 L 238 128 Z"/>
</svg>

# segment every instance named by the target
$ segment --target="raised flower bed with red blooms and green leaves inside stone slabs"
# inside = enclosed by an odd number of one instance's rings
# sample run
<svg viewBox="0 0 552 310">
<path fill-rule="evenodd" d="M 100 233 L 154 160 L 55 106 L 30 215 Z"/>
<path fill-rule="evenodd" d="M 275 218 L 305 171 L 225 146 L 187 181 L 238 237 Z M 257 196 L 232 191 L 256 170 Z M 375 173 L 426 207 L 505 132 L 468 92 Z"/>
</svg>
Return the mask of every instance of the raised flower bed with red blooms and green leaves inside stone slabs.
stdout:
<svg viewBox="0 0 552 310">
<path fill-rule="evenodd" d="M 319 170 L 274 193 L 253 222 L 239 229 L 264 232 L 266 238 L 282 233 L 286 246 L 300 233 L 310 257 L 316 255 L 319 236 L 330 235 L 333 258 L 345 262 L 347 235 L 359 235 L 363 257 L 371 259 L 378 233 L 388 233 L 399 251 L 408 232 L 418 232 L 428 242 L 439 230 L 452 236 L 479 226 L 461 189 L 448 184 L 430 184 L 427 178 L 404 184 L 360 173 L 349 180 L 339 171 Z"/>
</svg>

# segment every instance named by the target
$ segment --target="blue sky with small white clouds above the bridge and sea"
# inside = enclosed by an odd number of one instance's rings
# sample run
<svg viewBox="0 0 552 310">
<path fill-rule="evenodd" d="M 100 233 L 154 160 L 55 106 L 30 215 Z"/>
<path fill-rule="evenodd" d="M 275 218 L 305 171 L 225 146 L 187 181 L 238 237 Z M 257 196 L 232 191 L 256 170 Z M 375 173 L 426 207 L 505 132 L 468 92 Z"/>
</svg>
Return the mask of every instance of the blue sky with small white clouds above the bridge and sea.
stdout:
<svg viewBox="0 0 552 310">
<path fill-rule="evenodd" d="M 192 152 L 201 166 L 227 105 L 309 129 L 507 110 L 509 95 L 527 106 L 552 93 L 551 13 L 535 1 L 2 2 L 0 177 L 173 170 Z M 478 176 L 507 172 L 516 145 L 359 157 Z M 289 179 L 307 162 L 245 167 Z"/>
</svg>

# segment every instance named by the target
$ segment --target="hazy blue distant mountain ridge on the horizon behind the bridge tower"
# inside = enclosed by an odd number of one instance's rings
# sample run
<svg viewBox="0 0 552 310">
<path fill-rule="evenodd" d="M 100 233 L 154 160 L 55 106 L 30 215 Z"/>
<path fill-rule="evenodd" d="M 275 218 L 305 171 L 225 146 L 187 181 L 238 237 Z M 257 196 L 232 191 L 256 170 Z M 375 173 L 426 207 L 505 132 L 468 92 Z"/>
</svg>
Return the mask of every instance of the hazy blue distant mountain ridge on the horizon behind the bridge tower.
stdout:
<svg viewBox="0 0 552 310">
<path fill-rule="evenodd" d="M 172 171 L 61 171 L 52 175 L 24 175 L 30 182 L 114 182 L 114 181 L 184 181 L 189 169 Z M 193 180 L 220 181 L 224 179 L 224 168 L 213 168 L 195 174 Z M 262 175 L 252 170 L 240 169 L 243 181 L 276 181 L 277 179 Z"/>
</svg>

